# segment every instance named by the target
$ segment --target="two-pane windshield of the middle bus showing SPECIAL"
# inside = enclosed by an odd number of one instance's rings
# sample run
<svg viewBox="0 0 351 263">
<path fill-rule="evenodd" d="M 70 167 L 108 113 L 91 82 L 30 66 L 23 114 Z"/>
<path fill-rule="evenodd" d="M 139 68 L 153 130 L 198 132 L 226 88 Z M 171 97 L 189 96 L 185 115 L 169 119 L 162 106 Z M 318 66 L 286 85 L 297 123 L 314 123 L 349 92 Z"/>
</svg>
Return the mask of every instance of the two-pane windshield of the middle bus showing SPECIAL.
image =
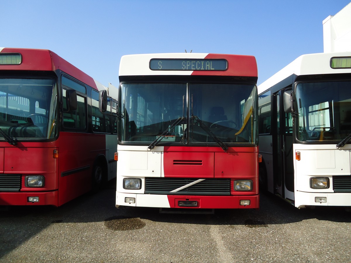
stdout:
<svg viewBox="0 0 351 263">
<path fill-rule="evenodd" d="M 254 84 L 121 83 L 119 96 L 120 141 L 257 143 Z"/>
</svg>

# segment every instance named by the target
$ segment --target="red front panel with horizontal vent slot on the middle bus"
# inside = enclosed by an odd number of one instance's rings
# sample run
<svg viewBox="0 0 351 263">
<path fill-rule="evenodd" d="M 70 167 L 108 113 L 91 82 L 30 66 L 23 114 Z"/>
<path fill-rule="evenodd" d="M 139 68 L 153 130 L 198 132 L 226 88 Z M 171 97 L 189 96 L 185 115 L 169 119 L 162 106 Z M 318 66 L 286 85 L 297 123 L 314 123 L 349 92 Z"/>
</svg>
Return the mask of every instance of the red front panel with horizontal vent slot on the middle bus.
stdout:
<svg viewBox="0 0 351 263">
<path fill-rule="evenodd" d="M 214 153 L 164 152 L 165 177 L 213 177 Z"/>
</svg>

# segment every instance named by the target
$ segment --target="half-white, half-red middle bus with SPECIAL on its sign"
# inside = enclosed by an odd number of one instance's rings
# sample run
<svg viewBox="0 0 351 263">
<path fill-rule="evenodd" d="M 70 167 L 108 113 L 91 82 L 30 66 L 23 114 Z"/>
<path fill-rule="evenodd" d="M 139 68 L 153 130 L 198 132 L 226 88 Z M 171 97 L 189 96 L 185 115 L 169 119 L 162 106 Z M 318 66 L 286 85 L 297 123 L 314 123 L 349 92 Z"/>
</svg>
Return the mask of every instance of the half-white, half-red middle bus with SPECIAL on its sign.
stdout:
<svg viewBox="0 0 351 263">
<path fill-rule="evenodd" d="M 116 207 L 258 208 L 253 56 L 122 56 Z"/>
</svg>

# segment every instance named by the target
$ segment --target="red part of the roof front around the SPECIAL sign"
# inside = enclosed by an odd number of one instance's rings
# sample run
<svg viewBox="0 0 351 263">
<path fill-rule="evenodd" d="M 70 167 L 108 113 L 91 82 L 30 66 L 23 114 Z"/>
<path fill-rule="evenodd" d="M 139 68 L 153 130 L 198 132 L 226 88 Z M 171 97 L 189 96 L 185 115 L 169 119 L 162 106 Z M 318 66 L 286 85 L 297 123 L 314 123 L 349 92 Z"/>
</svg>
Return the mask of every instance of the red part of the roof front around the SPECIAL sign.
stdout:
<svg viewBox="0 0 351 263">
<path fill-rule="evenodd" d="M 210 76 L 247 76 L 257 77 L 257 63 L 254 56 L 246 55 L 227 55 L 227 54 L 208 54 L 205 59 L 226 59 L 228 69 L 224 71 L 199 70 L 191 75 L 210 75 Z"/>
</svg>

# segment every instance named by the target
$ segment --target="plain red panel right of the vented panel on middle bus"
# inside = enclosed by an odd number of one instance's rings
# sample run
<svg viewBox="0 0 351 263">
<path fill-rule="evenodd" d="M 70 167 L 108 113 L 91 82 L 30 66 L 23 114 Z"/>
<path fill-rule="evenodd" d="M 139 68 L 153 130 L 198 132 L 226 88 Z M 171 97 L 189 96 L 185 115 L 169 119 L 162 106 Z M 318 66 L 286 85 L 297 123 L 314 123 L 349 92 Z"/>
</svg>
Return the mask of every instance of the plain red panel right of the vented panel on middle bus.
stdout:
<svg viewBox="0 0 351 263">
<path fill-rule="evenodd" d="M 245 179 L 257 175 L 257 153 L 214 153 L 214 177 Z"/>
</svg>

